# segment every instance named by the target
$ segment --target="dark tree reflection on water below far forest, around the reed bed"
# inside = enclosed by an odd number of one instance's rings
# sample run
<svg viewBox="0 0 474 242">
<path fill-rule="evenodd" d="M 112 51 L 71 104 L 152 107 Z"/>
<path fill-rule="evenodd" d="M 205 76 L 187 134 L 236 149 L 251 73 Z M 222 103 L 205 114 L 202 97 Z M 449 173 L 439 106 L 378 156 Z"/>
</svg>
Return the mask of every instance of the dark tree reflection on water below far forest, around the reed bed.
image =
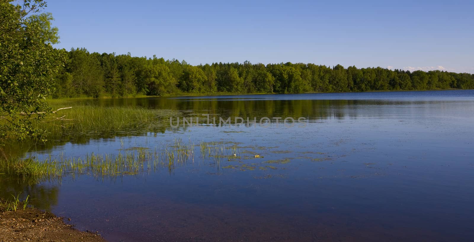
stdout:
<svg viewBox="0 0 474 242">
<path fill-rule="evenodd" d="M 199 117 L 201 124 L 207 123 L 207 117 L 201 114 L 209 114 L 210 118 L 219 117 L 224 120 L 231 117 L 230 124 L 235 124 L 234 117 L 248 117 L 257 121 L 262 117 L 306 117 L 308 121 L 326 119 L 358 118 L 361 116 L 379 116 L 382 112 L 388 112 L 388 105 L 426 105 L 429 101 L 391 101 L 391 100 L 269 100 L 269 99 L 218 99 L 218 98 L 137 98 L 137 99 L 85 99 L 71 100 L 71 105 L 91 105 L 99 107 L 141 107 L 156 110 L 173 110 L 177 114 L 172 117 Z M 4 147 L 5 153 L 11 156 L 21 156 L 31 151 L 46 151 L 65 143 L 86 144 L 90 140 L 107 139 L 115 137 L 144 136 L 151 133 L 164 133 L 172 130 L 170 116 L 159 116 L 149 123 L 137 120 L 136 124 L 128 124 L 121 130 L 113 127 L 91 127 L 97 132 L 81 134 L 70 134 L 68 132 L 50 134 L 46 143 L 10 143 Z M 195 123 L 195 119 L 193 119 Z M 282 120 L 280 120 L 282 122 Z M 174 124 L 175 125 L 175 124 Z M 178 129 L 184 129 L 180 125 Z M 173 129 L 176 130 L 176 129 Z"/>
</svg>

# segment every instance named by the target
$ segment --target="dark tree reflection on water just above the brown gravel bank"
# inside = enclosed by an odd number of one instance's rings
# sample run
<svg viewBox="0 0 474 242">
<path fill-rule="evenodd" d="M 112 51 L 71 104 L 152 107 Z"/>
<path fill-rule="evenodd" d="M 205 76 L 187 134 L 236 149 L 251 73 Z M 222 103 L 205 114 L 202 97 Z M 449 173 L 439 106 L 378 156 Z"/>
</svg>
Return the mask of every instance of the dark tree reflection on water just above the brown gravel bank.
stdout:
<svg viewBox="0 0 474 242">
<path fill-rule="evenodd" d="M 13 199 L 11 195 L 20 194 L 20 200 L 24 200 L 29 195 L 29 204 L 36 208 L 51 210 L 57 205 L 59 188 L 51 183 L 36 183 L 38 181 L 23 179 L 19 177 L 2 177 L 0 175 L 0 197 L 3 199 Z"/>
</svg>

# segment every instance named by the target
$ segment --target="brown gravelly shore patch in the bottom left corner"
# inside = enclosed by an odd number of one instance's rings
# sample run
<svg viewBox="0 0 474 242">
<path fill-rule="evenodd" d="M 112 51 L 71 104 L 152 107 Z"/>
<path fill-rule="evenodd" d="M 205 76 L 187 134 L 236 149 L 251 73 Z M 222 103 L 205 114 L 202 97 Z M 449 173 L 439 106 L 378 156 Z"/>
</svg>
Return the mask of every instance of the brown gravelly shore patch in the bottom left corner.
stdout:
<svg viewBox="0 0 474 242">
<path fill-rule="evenodd" d="M 8 204 L 0 200 L 0 242 L 107 242 L 99 233 L 79 231 L 50 212 L 23 209 L 22 202 L 17 211 L 7 211 Z"/>
</svg>

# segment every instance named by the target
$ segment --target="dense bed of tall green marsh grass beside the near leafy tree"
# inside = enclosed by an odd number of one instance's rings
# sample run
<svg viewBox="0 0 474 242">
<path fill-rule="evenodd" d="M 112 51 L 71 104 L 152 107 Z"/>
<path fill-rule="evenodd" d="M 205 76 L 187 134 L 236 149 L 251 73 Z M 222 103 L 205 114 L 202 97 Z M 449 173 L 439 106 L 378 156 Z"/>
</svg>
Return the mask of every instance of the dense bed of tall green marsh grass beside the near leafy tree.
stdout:
<svg viewBox="0 0 474 242">
<path fill-rule="evenodd" d="M 87 105 L 73 100 L 53 99 L 48 104 L 58 110 L 48 115 L 34 127 L 46 131 L 47 139 L 56 139 L 64 135 L 127 134 L 144 131 L 162 132 L 166 129 L 166 118 L 175 111 L 154 110 L 143 107 L 114 106 L 103 107 Z M 72 107 L 72 108 L 69 108 Z M 0 120 L 0 122 L 6 122 Z"/>
</svg>

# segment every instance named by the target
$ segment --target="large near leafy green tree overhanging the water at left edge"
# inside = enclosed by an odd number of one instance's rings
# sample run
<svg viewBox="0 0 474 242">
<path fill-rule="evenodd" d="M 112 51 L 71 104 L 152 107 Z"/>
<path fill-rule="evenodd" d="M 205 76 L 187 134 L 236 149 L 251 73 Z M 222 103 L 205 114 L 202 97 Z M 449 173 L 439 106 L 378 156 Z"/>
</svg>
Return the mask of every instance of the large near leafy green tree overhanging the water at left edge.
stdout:
<svg viewBox="0 0 474 242">
<path fill-rule="evenodd" d="M 52 110 L 44 99 L 53 91 L 53 77 L 65 63 L 50 13 L 31 15 L 46 6 L 25 0 L 23 6 L 0 1 L 0 143 L 8 138 L 44 138 L 34 122 Z"/>
</svg>

